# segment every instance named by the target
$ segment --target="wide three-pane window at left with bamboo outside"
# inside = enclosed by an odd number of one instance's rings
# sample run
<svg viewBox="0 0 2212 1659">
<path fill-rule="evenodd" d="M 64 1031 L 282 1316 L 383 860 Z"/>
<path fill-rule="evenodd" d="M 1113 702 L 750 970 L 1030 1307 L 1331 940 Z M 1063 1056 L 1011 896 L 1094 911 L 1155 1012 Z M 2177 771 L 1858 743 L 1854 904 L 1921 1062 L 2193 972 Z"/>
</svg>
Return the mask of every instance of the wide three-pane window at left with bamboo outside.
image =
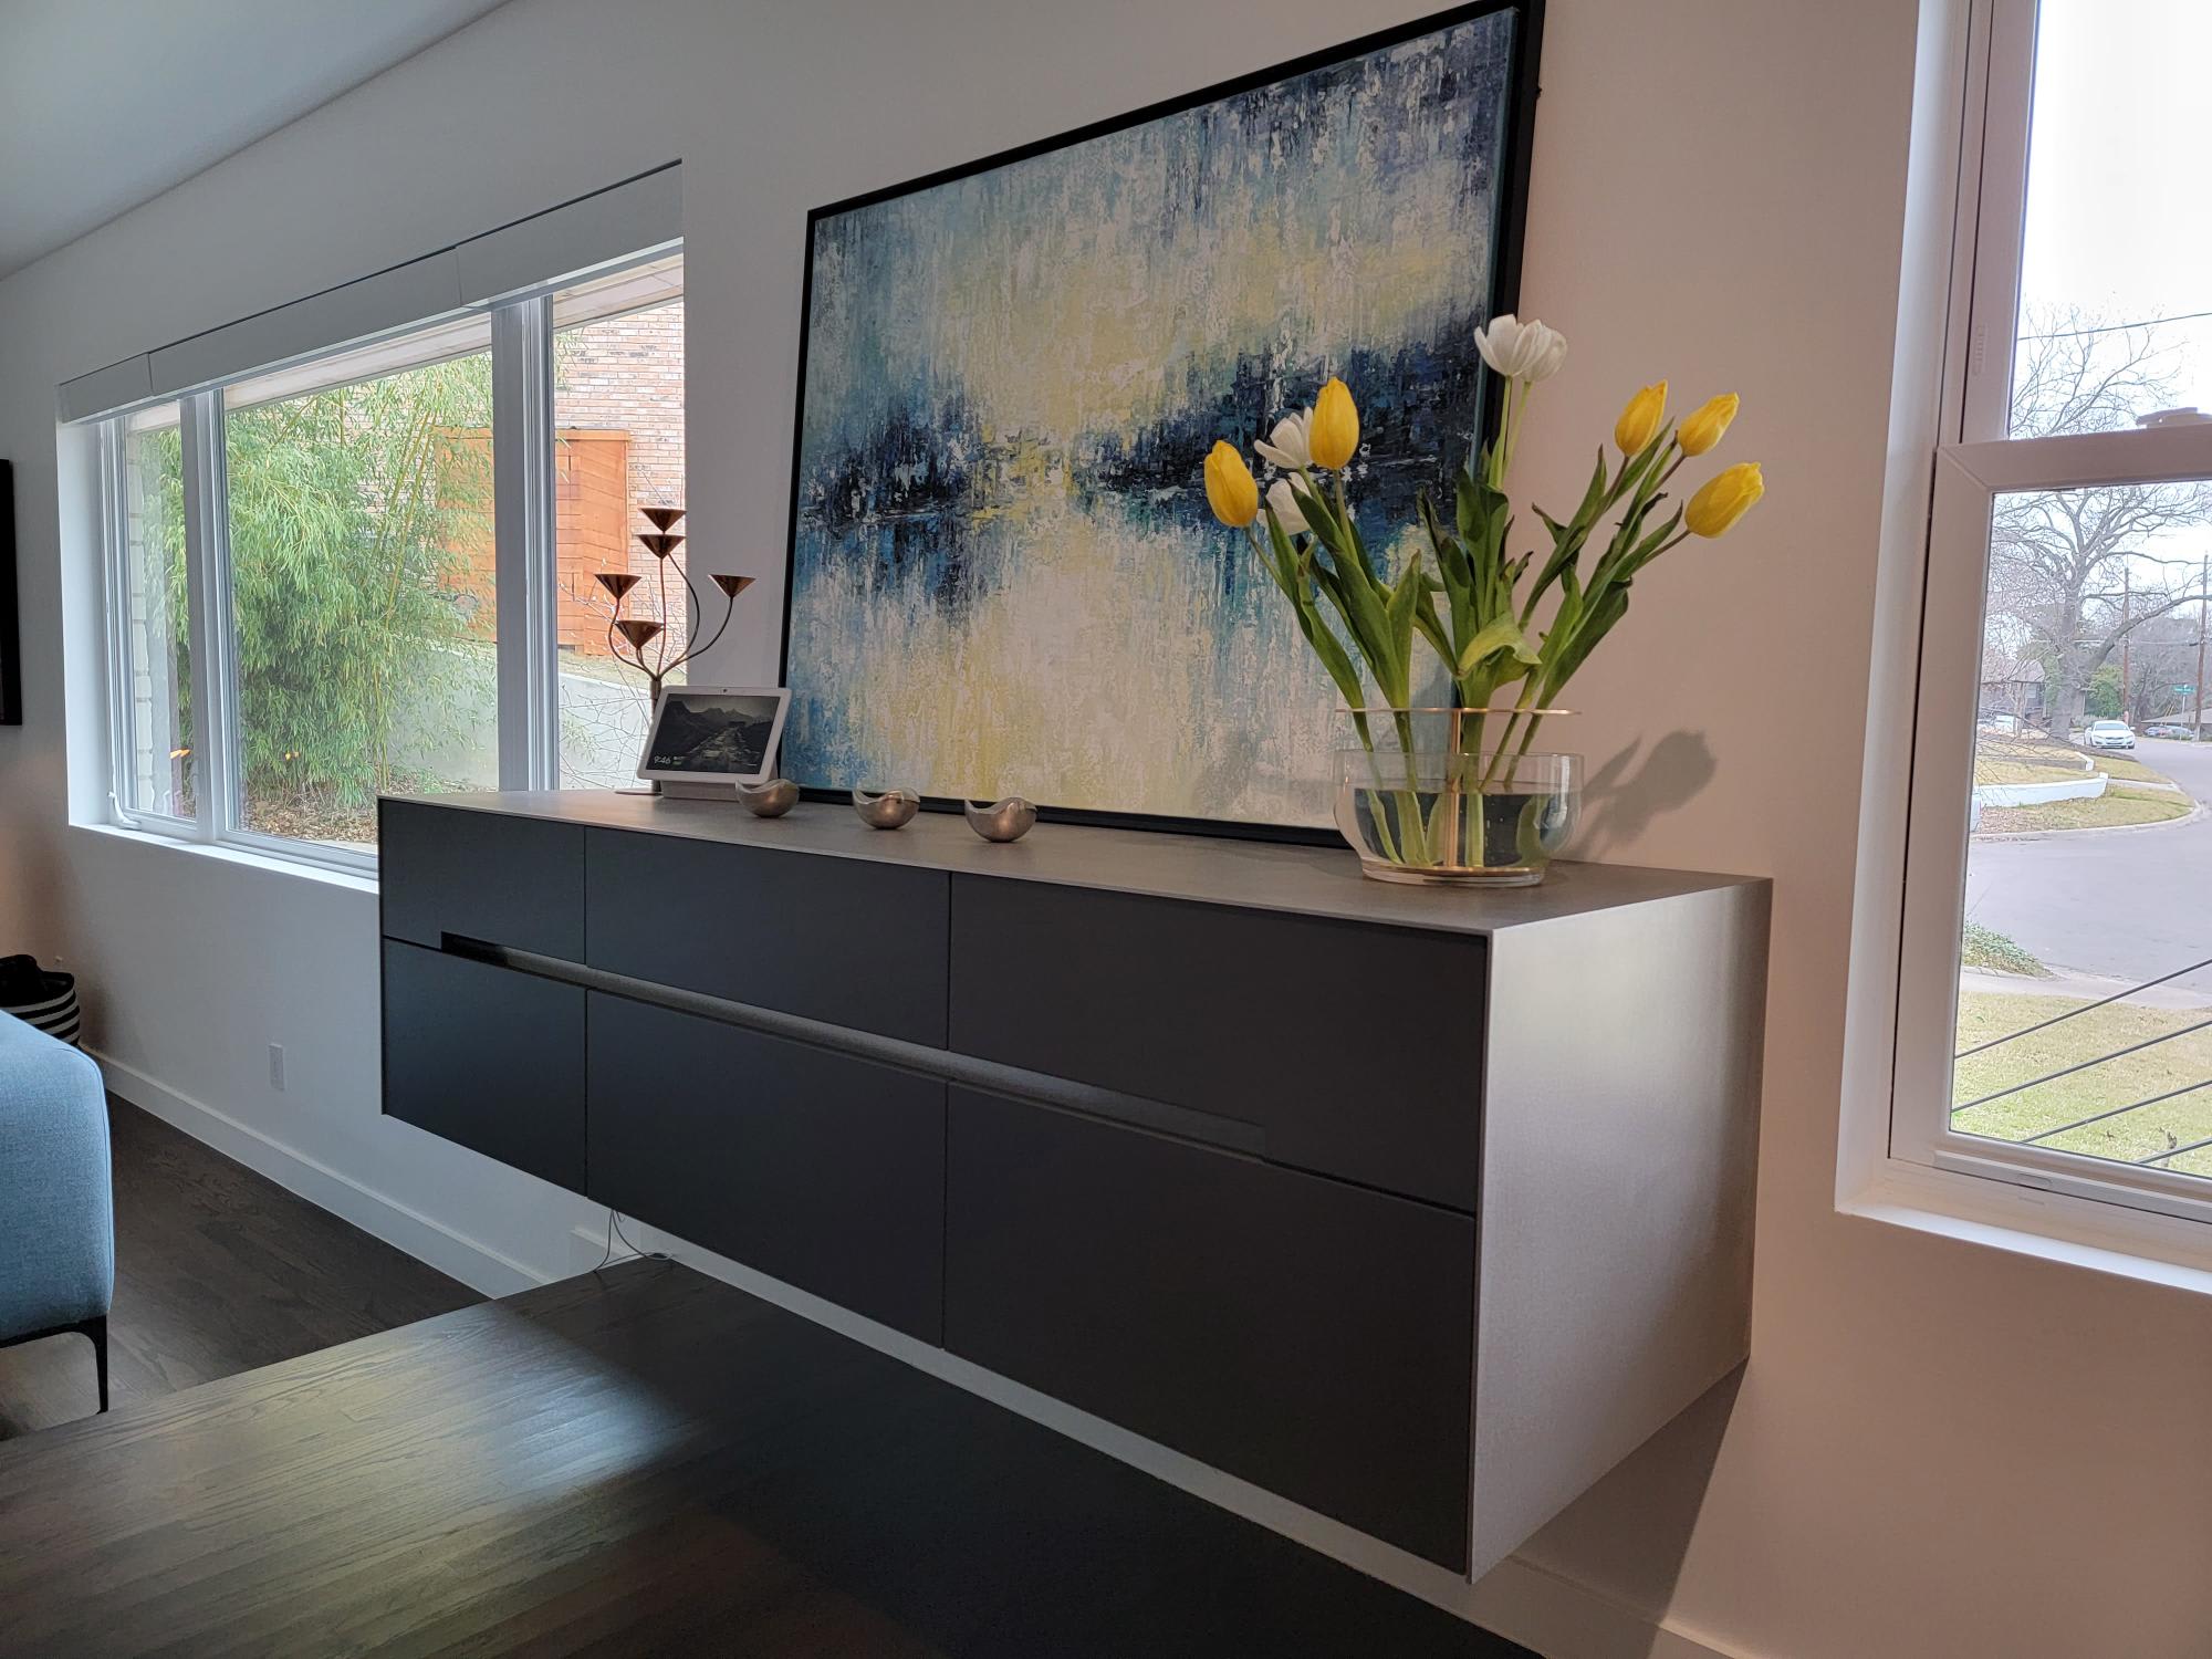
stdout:
<svg viewBox="0 0 2212 1659">
<path fill-rule="evenodd" d="M 681 294 L 659 257 L 106 418 L 117 816 L 367 869 L 378 794 L 628 781 L 591 575 L 681 504 Z M 681 648 L 670 564 L 626 615 Z"/>
</svg>

